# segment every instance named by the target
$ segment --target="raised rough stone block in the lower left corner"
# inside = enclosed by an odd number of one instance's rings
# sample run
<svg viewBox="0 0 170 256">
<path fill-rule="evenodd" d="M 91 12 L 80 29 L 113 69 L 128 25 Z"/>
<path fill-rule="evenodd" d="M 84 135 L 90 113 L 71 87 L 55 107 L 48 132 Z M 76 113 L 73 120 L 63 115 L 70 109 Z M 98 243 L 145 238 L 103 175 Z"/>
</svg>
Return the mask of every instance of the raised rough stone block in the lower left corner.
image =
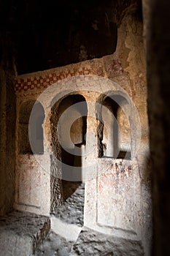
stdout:
<svg viewBox="0 0 170 256">
<path fill-rule="evenodd" d="M 0 218 L 0 246 L 3 255 L 31 256 L 50 230 L 50 219 L 13 211 Z"/>
</svg>

